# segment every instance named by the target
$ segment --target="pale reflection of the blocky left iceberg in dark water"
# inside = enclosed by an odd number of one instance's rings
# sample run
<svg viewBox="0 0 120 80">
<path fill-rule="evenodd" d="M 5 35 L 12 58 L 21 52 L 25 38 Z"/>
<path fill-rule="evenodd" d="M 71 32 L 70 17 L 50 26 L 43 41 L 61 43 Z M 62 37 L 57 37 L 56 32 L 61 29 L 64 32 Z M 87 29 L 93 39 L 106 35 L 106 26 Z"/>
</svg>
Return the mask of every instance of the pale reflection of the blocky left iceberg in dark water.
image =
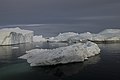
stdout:
<svg viewBox="0 0 120 80">
<path fill-rule="evenodd" d="M 15 59 L 18 56 L 24 54 L 26 50 L 30 50 L 32 48 L 32 44 L 0 46 L 0 62 L 4 60 Z"/>
</svg>

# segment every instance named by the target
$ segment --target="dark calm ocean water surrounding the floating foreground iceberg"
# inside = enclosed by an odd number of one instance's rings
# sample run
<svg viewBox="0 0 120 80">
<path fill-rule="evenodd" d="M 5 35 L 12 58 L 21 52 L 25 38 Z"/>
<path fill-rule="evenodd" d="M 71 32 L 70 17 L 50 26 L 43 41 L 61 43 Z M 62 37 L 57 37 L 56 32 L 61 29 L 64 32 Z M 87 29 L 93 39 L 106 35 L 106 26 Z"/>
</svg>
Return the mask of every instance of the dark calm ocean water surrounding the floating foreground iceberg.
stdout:
<svg viewBox="0 0 120 80">
<path fill-rule="evenodd" d="M 80 63 L 30 67 L 26 60 L 18 59 L 26 50 L 51 49 L 66 45 L 34 43 L 0 46 L 0 80 L 120 80 L 119 43 L 98 44 L 101 53 Z"/>
</svg>

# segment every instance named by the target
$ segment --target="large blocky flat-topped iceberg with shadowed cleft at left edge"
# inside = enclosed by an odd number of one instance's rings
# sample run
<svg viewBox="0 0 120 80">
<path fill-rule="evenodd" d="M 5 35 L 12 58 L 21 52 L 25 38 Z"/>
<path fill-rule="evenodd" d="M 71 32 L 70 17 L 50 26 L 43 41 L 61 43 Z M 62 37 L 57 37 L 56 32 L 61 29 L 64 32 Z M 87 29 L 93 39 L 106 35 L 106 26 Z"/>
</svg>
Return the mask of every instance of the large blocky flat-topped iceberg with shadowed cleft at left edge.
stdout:
<svg viewBox="0 0 120 80">
<path fill-rule="evenodd" d="M 0 29 L 0 45 L 11 45 L 33 41 L 33 31 L 20 28 Z"/>
</svg>

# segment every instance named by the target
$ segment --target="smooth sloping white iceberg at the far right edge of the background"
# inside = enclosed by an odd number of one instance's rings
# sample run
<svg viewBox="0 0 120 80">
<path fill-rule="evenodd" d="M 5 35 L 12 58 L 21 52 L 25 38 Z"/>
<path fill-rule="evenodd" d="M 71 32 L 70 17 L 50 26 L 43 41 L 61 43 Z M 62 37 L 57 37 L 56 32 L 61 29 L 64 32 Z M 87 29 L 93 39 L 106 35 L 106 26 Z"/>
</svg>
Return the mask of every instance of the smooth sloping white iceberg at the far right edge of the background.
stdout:
<svg viewBox="0 0 120 80">
<path fill-rule="evenodd" d="M 91 41 L 97 42 L 117 42 L 120 41 L 120 29 L 105 29 L 93 36 Z"/>
</svg>

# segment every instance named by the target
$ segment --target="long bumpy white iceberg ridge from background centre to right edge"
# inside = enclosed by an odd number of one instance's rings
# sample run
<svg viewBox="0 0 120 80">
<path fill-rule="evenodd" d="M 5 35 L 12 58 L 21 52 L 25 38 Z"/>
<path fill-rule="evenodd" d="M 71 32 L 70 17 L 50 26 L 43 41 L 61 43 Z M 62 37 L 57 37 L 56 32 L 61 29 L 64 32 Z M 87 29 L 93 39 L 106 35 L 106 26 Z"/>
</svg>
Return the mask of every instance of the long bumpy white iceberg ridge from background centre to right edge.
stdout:
<svg viewBox="0 0 120 80">
<path fill-rule="evenodd" d="M 120 29 L 105 29 L 97 34 L 85 32 L 85 33 L 74 33 L 65 32 L 60 33 L 56 37 L 51 37 L 48 41 L 53 42 L 68 42 L 68 43 L 78 43 L 78 42 L 120 42 Z"/>
</svg>

